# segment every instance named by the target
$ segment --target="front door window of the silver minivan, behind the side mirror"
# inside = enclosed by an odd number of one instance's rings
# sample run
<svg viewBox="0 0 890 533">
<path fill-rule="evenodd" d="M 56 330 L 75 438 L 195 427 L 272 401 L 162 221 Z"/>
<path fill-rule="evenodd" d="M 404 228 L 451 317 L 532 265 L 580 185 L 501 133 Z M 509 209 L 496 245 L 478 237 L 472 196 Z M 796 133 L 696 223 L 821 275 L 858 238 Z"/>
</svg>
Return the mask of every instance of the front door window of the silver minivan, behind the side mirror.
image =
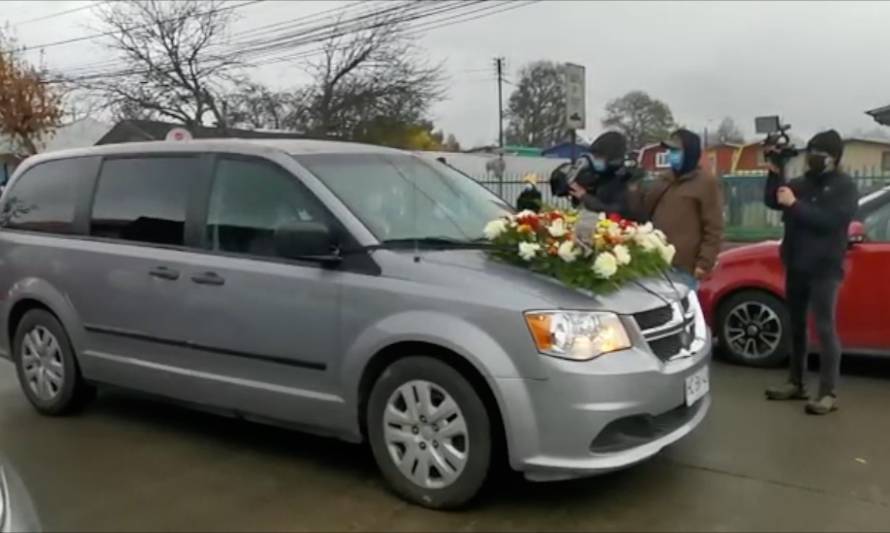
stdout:
<svg viewBox="0 0 890 533">
<path fill-rule="evenodd" d="M 328 220 L 312 193 L 283 168 L 254 158 L 217 162 L 206 226 L 212 250 L 276 257 L 276 229 Z"/>
</svg>

